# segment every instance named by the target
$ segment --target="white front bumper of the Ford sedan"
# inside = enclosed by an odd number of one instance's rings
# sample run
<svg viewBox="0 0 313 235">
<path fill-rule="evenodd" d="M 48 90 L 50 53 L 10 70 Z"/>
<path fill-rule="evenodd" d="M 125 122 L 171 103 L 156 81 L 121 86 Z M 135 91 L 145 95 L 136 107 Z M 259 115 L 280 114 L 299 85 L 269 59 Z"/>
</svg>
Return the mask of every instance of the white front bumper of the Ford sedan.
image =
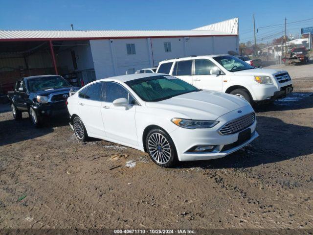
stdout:
<svg viewBox="0 0 313 235">
<path fill-rule="evenodd" d="M 240 113 L 239 111 L 243 111 Z M 229 121 L 243 117 L 253 112 L 250 106 L 242 108 L 241 110 L 234 110 L 221 116 L 217 120 L 219 123 L 212 128 L 203 129 L 186 129 L 177 128 L 172 131 L 170 136 L 172 137 L 179 161 L 195 161 L 195 160 L 210 160 L 216 158 L 222 158 L 226 155 L 233 153 L 240 148 L 243 148 L 251 141 L 255 140 L 259 135 L 255 131 L 256 119 L 252 124 L 246 126 L 234 134 L 223 135 L 220 129 Z M 240 138 L 240 133 L 249 134 L 246 138 Z M 190 151 L 194 149 L 195 146 L 214 146 L 211 151 Z"/>
</svg>

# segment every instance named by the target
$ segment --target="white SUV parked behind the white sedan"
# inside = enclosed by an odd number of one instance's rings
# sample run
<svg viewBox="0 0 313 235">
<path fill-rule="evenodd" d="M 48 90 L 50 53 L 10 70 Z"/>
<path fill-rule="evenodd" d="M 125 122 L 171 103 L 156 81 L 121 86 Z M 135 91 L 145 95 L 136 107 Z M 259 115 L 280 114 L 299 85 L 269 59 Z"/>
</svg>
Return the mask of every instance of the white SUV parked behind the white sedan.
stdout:
<svg viewBox="0 0 313 235">
<path fill-rule="evenodd" d="M 272 101 L 292 92 L 287 71 L 256 69 L 232 55 L 203 55 L 165 60 L 158 73 L 176 76 L 194 86 L 254 101 Z"/>
</svg>

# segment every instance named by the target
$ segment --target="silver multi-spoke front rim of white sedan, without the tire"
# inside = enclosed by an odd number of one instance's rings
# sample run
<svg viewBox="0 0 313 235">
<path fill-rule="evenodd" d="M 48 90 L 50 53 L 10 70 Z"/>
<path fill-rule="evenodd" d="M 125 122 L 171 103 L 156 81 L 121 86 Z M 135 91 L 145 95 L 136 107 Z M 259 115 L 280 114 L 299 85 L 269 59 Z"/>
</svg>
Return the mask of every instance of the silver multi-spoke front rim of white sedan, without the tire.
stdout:
<svg viewBox="0 0 313 235">
<path fill-rule="evenodd" d="M 158 164 L 166 164 L 171 159 L 171 147 L 167 139 L 159 134 L 153 133 L 148 139 L 148 149 L 152 158 Z"/>
</svg>

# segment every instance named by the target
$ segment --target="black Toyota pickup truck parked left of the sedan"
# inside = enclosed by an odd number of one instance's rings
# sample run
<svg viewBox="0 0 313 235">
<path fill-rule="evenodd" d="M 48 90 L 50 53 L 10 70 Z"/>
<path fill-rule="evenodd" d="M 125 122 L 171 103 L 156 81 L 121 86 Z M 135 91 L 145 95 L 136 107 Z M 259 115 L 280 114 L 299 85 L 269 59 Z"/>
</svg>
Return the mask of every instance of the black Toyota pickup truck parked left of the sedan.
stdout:
<svg viewBox="0 0 313 235">
<path fill-rule="evenodd" d="M 67 117 L 67 97 L 78 89 L 59 75 L 24 77 L 16 82 L 13 92 L 8 92 L 13 117 L 19 120 L 22 112 L 28 112 L 36 127 L 41 126 L 47 117 L 58 114 Z"/>
</svg>

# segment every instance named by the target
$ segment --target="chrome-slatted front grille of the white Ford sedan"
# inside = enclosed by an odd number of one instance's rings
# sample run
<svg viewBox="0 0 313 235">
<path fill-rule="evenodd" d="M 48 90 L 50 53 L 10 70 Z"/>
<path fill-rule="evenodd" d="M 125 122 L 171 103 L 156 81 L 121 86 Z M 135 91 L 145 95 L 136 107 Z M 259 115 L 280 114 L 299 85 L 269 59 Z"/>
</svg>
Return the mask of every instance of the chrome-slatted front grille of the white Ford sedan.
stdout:
<svg viewBox="0 0 313 235">
<path fill-rule="evenodd" d="M 246 129 L 252 125 L 255 120 L 255 114 L 247 114 L 235 120 L 227 122 L 221 129 L 220 133 L 223 135 L 232 135 Z"/>
</svg>

